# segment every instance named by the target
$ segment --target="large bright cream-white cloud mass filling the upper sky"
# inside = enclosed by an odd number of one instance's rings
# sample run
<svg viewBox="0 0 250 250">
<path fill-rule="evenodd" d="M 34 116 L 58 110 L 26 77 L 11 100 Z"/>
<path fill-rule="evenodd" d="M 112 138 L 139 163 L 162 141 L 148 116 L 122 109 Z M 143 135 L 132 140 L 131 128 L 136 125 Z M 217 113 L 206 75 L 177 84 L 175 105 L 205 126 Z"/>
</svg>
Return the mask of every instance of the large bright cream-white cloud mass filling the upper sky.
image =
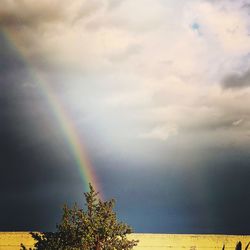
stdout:
<svg viewBox="0 0 250 250">
<path fill-rule="evenodd" d="M 49 8 L 47 1 L 35 7 L 26 0 L 30 18 L 21 20 L 27 27 L 10 26 L 6 17 L 19 16 L 13 1 L 2 24 L 31 64 L 40 65 L 42 58 L 49 76 L 62 75 L 62 99 L 79 117 L 91 117 L 93 127 L 105 127 L 107 137 L 115 134 L 121 143 L 138 135 L 166 140 L 194 130 L 225 132 L 236 127 L 232 124 L 239 113 L 247 126 L 249 91 L 242 99 L 241 92 L 220 87 L 224 75 L 241 68 L 250 52 L 250 21 L 242 5 L 202 0 L 52 2 L 60 6 L 53 20 L 45 14 L 36 20 L 40 10 Z M 27 25 L 32 22 L 40 28 Z"/>
</svg>

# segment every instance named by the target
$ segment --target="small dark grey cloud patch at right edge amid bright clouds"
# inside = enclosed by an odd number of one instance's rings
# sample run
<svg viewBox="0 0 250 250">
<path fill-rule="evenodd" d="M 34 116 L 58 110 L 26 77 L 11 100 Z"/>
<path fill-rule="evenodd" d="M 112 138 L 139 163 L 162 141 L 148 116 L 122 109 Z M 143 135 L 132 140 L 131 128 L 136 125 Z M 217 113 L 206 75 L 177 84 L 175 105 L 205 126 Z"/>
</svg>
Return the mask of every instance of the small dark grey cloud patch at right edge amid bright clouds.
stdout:
<svg viewBox="0 0 250 250">
<path fill-rule="evenodd" d="M 221 83 L 224 89 L 242 89 L 250 86 L 250 70 L 243 74 L 230 74 Z"/>
</svg>

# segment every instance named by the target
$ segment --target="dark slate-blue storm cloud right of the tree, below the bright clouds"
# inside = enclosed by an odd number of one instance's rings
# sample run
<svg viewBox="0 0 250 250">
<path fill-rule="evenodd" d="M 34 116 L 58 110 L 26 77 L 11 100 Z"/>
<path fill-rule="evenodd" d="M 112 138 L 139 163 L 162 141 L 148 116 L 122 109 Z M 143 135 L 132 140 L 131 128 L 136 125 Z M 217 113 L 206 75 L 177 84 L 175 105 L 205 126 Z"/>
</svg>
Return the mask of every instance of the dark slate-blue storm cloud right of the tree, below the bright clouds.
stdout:
<svg viewBox="0 0 250 250">
<path fill-rule="evenodd" d="M 181 147 L 178 152 L 185 157 Z M 176 160 L 161 167 L 156 162 L 102 161 L 106 195 L 116 198 L 118 215 L 140 232 L 246 234 L 248 151 L 213 147 L 202 148 L 200 154 L 203 161 L 192 166 Z"/>
</svg>

